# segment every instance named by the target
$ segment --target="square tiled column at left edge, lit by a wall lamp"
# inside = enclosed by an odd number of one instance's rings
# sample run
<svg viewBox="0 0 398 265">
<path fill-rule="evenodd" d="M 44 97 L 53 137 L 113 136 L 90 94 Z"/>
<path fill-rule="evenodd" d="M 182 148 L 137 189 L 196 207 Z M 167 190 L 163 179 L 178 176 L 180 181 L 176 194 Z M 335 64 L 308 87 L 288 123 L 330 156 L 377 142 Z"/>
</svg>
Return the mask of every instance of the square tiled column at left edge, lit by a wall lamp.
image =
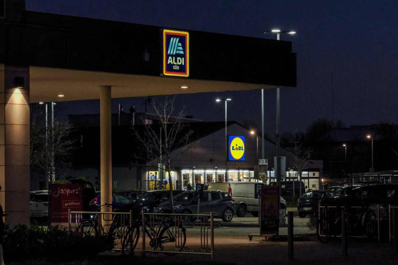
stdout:
<svg viewBox="0 0 398 265">
<path fill-rule="evenodd" d="M 29 67 L 0 64 L 0 203 L 11 227 L 29 224 L 29 132 Z"/>
</svg>

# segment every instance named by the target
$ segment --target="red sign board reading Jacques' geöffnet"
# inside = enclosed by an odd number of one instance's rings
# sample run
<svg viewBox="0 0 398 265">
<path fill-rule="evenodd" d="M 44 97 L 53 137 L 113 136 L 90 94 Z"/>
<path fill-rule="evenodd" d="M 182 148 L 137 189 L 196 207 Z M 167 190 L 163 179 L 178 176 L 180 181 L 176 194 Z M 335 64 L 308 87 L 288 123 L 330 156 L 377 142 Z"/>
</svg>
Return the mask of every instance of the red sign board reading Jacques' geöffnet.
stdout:
<svg viewBox="0 0 398 265">
<path fill-rule="evenodd" d="M 67 228 L 68 209 L 83 210 L 83 185 L 51 184 L 49 194 L 49 224 L 59 229 Z"/>
</svg>

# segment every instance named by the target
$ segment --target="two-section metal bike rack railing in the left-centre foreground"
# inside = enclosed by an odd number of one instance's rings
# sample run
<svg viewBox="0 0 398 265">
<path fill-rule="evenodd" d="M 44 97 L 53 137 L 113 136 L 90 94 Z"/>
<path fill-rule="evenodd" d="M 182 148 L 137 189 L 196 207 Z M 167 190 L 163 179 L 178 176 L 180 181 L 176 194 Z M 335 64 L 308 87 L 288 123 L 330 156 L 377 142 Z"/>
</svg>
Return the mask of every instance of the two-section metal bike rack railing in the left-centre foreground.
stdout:
<svg viewBox="0 0 398 265">
<path fill-rule="evenodd" d="M 91 216 L 87 218 L 86 216 Z M 111 216 L 111 217 L 109 217 Z M 184 219 L 189 216 L 189 218 L 194 219 L 194 221 L 184 221 Z M 169 222 L 164 220 L 168 218 Z M 75 225 L 76 229 L 82 224 L 86 223 L 87 226 L 96 224 L 97 231 L 99 234 L 106 234 L 112 226 L 115 226 L 115 220 L 119 220 L 118 226 L 126 228 L 127 236 L 128 228 L 132 226 L 137 226 L 137 219 L 133 218 L 133 212 L 84 212 L 84 211 L 71 211 L 68 210 L 68 228 L 69 231 L 72 230 L 72 224 Z M 217 224 L 217 223 L 216 223 Z M 171 227 L 173 229 L 171 229 Z M 186 228 L 199 228 L 200 236 L 200 246 L 196 249 L 196 244 L 189 244 L 189 240 L 193 240 L 193 236 L 188 237 L 186 235 Z M 182 254 L 201 254 L 210 255 L 211 260 L 214 259 L 214 228 L 215 226 L 213 220 L 213 212 L 210 214 L 165 214 L 165 213 L 144 213 L 142 212 L 142 224 L 139 224 L 140 232 L 142 233 L 142 254 L 145 253 L 182 253 Z M 162 240 L 160 238 L 162 234 L 170 233 L 170 237 L 175 240 L 173 247 L 162 246 Z M 148 232 L 148 233 L 147 233 Z M 149 238 L 150 248 L 148 249 L 146 239 Z M 182 237 L 183 236 L 183 237 Z M 181 239 L 184 238 L 184 242 Z M 124 238 L 119 238 L 119 244 L 113 250 L 120 251 L 121 243 Z M 188 242 L 187 242 L 188 239 Z M 172 241 L 172 240 L 169 240 Z M 163 242 L 164 245 L 166 245 Z"/>
</svg>

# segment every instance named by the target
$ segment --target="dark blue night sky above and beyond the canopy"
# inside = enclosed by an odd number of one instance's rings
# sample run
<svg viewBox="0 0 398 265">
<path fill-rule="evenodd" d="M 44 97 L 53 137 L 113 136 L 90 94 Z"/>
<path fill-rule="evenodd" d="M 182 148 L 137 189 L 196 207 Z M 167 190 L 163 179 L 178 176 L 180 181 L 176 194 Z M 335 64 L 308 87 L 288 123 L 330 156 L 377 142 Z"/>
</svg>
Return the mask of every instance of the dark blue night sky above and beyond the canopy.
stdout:
<svg viewBox="0 0 398 265">
<path fill-rule="evenodd" d="M 281 35 L 297 53 L 297 88 L 281 89 L 281 131 L 305 130 L 318 118 L 341 119 L 347 126 L 398 123 L 398 3 L 318 0 L 26 0 L 26 9 L 177 29 L 275 38 Z M 247 51 L 247 56 L 256 56 Z M 265 90 L 265 128 L 275 133 L 276 91 Z M 187 115 L 223 121 L 217 97 L 230 97 L 228 120 L 261 125 L 261 91 L 178 95 Z M 195 99 L 193 101 L 192 99 Z M 143 98 L 113 100 L 128 111 L 144 111 Z M 192 102 L 192 103 L 190 103 Z M 64 113 L 99 113 L 99 101 L 63 104 Z"/>
</svg>

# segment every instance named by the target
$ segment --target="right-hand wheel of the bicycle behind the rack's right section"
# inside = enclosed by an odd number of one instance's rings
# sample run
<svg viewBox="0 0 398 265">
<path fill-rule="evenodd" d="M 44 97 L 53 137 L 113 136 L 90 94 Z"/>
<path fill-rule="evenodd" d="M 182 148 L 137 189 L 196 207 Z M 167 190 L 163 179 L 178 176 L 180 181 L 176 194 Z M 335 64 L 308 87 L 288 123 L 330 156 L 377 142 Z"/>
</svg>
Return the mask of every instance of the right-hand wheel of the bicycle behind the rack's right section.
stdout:
<svg viewBox="0 0 398 265">
<path fill-rule="evenodd" d="M 164 253 L 168 256 L 176 255 L 176 251 L 181 251 L 185 246 L 187 235 L 185 228 L 179 226 L 165 226 L 160 231 L 155 250 L 171 251 Z"/>
</svg>

